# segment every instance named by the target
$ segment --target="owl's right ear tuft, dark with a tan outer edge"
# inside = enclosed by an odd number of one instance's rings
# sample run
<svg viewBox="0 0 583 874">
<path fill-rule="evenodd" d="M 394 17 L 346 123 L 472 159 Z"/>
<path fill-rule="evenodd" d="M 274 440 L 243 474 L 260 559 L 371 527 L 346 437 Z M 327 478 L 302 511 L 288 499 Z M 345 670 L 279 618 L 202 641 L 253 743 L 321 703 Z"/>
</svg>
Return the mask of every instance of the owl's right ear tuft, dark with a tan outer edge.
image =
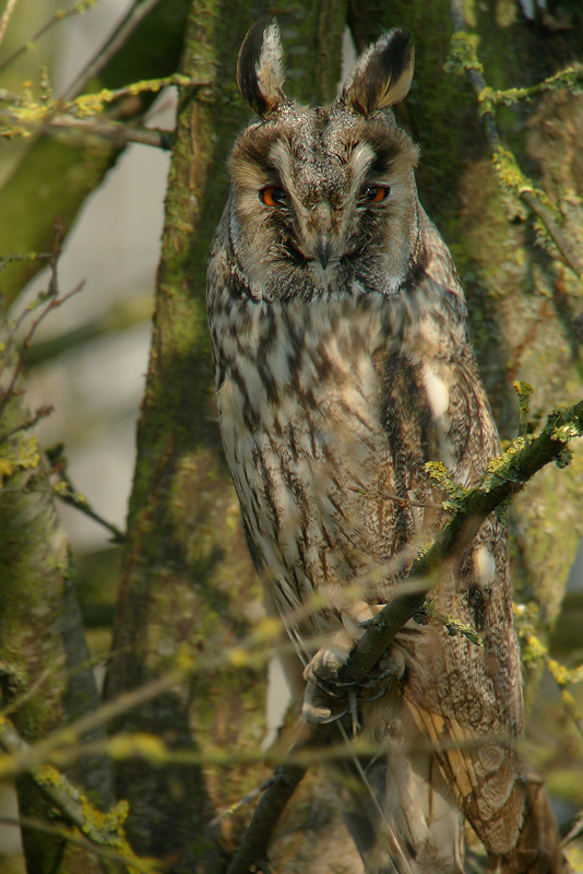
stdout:
<svg viewBox="0 0 583 874">
<path fill-rule="evenodd" d="M 403 101 L 413 79 L 411 34 L 391 31 L 368 48 L 346 81 L 341 101 L 359 116 L 371 116 Z"/>
</svg>

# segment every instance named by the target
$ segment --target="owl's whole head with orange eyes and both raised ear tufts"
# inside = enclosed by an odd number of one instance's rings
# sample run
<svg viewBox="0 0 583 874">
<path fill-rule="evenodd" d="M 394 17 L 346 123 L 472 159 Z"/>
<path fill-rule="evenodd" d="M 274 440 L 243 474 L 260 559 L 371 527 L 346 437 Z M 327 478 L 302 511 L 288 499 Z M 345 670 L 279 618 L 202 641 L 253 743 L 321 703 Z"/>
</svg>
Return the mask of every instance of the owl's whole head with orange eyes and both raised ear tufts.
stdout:
<svg viewBox="0 0 583 874">
<path fill-rule="evenodd" d="M 398 286 L 417 234 L 418 149 L 391 107 L 407 95 L 413 66 L 408 34 L 392 31 L 362 55 L 334 103 L 299 106 L 283 92 L 277 23 L 249 31 L 237 82 L 259 120 L 229 162 L 230 235 L 255 294 Z"/>
</svg>

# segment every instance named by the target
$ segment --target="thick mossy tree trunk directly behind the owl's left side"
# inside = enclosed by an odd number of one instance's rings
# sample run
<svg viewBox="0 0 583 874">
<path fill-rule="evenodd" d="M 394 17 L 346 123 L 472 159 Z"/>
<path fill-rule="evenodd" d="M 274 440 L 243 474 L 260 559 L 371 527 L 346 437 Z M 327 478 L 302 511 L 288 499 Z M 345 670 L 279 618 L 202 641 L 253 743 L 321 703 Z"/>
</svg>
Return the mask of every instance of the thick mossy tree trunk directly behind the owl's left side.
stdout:
<svg viewBox="0 0 583 874">
<path fill-rule="evenodd" d="M 180 97 L 107 678 L 107 694 L 116 696 L 168 670 L 180 647 L 189 648 L 201 665 L 191 687 L 129 714 L 117 728 L 147 730 L 172 746 L 204 751 L 218 744 L 239 754 L 257 751 L 264 733 L 264 669 L 249 665 L 235 674 L 225 653 L 251 635 L 261 594 L 222 458 L 204 287 L 209 247 L 227 194 L 225 161 L 249 115 L 236 96 L 235 59 L 248 27 L 265 11 L 261 2 L 240 12 L 227 2 L 192 5 L 183 71 L 214 85 Z M 306 2 L 281 16 L 294 70 L 288 91 L 298 99 L 335 95 L 344 21 L 345 10 L 333 3 Z M 314 73 L 322 43 L 326 55 Z M 306 52 L 306 46 L 313 50 Z M 221 772 L 205 768 L 204 776 L 206 784 L 198 768 L 119 768 L 118 789 L 130 800 L 129 834 L 136 850 L 175 853 L 172 871 L 190 871 L 194 863 L 200 870 L 221 867 L 216 847 L 201 842 L 211 811 L 229 807 L 261 773 L 234 765 Z M 246 817 L 243 810 L 225 820 L 227 850 Z"/>
</svg>

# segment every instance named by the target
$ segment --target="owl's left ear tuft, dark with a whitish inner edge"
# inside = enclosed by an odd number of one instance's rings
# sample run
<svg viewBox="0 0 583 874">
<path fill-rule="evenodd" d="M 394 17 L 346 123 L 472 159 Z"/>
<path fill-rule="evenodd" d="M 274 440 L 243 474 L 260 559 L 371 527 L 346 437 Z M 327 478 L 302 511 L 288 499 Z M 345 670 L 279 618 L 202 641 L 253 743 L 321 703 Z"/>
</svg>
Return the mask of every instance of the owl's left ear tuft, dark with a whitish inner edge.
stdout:
<svg viewBox="0 0 583 874">
<path fill-rule="evenodd" d="M 284 49 L 276 19 L 260 19 L 243 39 L 237 62 L 237 84 L 258 116 L 266 116 L 284 99 Z"/>
</svg>

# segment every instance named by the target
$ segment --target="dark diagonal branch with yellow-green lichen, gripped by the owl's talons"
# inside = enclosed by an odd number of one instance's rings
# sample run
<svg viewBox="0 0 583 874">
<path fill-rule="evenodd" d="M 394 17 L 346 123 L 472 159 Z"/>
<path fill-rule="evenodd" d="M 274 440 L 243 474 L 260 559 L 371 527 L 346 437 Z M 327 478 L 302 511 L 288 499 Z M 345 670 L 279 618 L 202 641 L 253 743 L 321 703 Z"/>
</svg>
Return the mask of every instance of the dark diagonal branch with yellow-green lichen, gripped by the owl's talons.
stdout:
<svg viewBox="0 0 583 874">
<path fill-rule="evenodd" d="M 402 583 L 402 594 L 393 598 L 370 623 L 338 672 L 340 685 L 348 686 L 370 676 L 403 626 L 424 610 L 427 592 L 439 583 L 444 569 L 459 559 L 489 513 L 507 506 L 525 483 L 551 461 L 559 468 L 569 463 L 568 444 L 582 434 L 583 401 L 580 401 L 570 409 L 552 412 L 537 437 L 517 437 L 504 452 L 490 461 L 475 488 L 455 487 L 457 508 L 451 520 L 432 545 L 414 562 L 408 581 Z M 440 476 L 443 485 L 442 471 L 433 470 L 433 473 Z M 329 704 L 333 712 L 337 701 L 330 699 Z M 301 727 L 300 736 L 290 751 L 293 760 L 284 761 L 275 769 L 228 874 L 248 874 L 253 866 L 269 871 L 266 859 L 271 837 L 307 770 L 298 766 L 297 755 L 322 746 L 336 730 L 335 723 Z"/>
</svg>

